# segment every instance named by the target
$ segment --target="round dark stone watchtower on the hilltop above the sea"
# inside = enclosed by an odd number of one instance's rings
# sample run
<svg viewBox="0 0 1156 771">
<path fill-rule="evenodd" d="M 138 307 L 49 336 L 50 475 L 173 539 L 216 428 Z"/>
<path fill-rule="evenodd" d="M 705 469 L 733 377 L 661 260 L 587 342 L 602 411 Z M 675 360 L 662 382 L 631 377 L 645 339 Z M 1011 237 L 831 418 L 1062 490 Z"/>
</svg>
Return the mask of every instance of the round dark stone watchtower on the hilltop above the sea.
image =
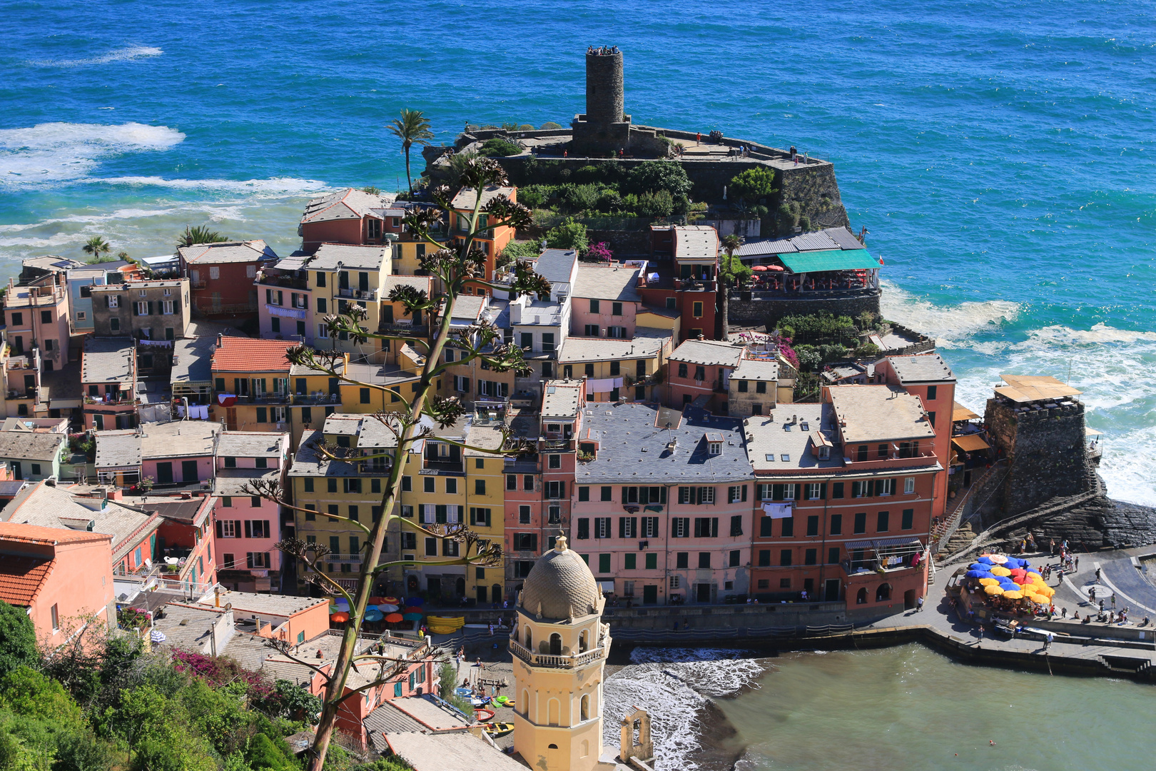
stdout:
<svg viewBox="0 0 1156 771">
<path fill-rule="evenodd" d="M 623 113 L 622 52 L 586 52 L 586 112 L 575 116 L 572 151 L 605 155 L 630 149 L 630 116 Z"/>
</svg>

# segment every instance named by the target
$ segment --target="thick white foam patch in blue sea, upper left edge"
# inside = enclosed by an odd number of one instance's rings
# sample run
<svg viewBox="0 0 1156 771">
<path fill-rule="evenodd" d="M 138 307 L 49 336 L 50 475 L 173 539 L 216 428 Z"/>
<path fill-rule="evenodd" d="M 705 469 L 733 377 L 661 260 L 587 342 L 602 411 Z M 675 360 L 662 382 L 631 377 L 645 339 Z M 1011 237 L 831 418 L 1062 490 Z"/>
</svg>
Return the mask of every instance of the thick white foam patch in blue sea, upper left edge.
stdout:
<svg viewBox="0 0 1156 771">
<path fill-rule="evenodd" d="M 38 124 L 0 129 L 0 185 L 81 179 L 103 158 L 166 150 L 185 140 L 168 126 Z"/>
</svg>

